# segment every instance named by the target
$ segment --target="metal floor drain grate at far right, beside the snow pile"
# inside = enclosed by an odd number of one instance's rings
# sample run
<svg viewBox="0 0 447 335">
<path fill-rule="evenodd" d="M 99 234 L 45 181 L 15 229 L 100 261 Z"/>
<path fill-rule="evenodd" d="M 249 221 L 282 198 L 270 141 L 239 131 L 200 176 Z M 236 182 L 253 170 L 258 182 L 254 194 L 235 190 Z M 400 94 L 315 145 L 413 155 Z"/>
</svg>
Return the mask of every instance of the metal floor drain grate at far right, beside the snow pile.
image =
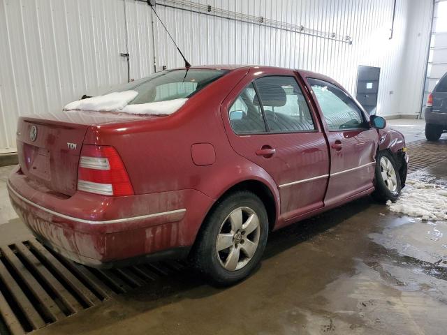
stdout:
<svg viewBox="0 0 447 335">
<path fill-rule="evenodd" d="M 408 172 L 415 172 L 447 159 L 447 140 L 418 140 L 406 145 L 410 156 Z"/>
</svg>

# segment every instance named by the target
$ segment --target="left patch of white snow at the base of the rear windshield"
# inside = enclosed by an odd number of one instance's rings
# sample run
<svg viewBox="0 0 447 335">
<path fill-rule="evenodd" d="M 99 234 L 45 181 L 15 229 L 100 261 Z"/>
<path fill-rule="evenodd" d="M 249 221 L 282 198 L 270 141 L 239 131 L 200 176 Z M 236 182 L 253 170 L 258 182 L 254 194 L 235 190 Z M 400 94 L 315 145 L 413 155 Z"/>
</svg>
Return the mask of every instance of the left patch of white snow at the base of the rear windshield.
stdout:
<svg viewBox="0 0 447 335">
<path fill-rule="evenodd" d="M 96 110 L 103 112 L 118 112 L 138 96 L 137 91 L 113 92 L 103 96 L 82 99 L 68 103 L 64 110 Z"/>
</svg>

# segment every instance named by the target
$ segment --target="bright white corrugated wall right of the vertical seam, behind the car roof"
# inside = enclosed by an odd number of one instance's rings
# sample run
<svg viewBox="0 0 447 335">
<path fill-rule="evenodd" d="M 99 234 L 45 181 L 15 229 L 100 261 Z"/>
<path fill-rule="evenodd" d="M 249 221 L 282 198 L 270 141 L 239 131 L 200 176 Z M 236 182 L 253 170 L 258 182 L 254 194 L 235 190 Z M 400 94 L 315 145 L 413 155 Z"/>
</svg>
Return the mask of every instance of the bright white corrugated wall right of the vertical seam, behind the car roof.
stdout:
<svg viewBox="0 0 447 335">
<path fill-rule="evenodd" d="M 391 40 L 392 0 L 202 0 L 200 3 L 349 35 L 353 37 L 353 44 L 158 5 L 156 8 L 163 22 L 192 64 L 304 68 L 334 77 L 353 95 L 356 94 L 358 65 L 378 66 L 381 68 L 381 80 L 377 112 L 390 115 L 409 114 L 409 110 L 416 113 L 418 110 L 430 38 L 430 0 L 397 1 Z M 413 17 L 416 13 L 420 14 L 418 20 Z M 175 47 L 163 43 L 168 36 L 159 22 L 156 31 L 156 44 L 159 45 L 157 65 L 168 68 L 182 66 L 183 61 Z M 408 38 L 412 39 L 409 43 L 411 48 L 407 47 Z M 408 71 L 401 64 L 408 64 L 412 70 Z M 406 87 L 410 91 L 402 89 L 402 75 L 405 75 Z M 400 97 L 410 92 L 411 99 L 406 102 L 412 108 L 400 108 Z"/>
</svg>

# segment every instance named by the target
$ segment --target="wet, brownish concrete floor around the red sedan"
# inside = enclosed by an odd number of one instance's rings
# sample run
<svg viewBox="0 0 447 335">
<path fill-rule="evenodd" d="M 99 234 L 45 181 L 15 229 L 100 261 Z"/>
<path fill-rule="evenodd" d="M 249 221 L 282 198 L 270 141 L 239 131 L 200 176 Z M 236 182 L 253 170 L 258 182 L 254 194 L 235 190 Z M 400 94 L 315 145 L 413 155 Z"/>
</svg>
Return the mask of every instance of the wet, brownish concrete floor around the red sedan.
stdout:
<svg viewBox="0 0 447 335">
<path fill-rule="evenodd" d="M 446 162 L 418 174 L 447 184 Z M 446 232 L 363 198 L 271 234 L 261 266 L 232 288 L 186 270 L 35 333 L 446 334 Z M 1 244 L 25 234 L 17 218 L 0 225 Z"/>
</svg>

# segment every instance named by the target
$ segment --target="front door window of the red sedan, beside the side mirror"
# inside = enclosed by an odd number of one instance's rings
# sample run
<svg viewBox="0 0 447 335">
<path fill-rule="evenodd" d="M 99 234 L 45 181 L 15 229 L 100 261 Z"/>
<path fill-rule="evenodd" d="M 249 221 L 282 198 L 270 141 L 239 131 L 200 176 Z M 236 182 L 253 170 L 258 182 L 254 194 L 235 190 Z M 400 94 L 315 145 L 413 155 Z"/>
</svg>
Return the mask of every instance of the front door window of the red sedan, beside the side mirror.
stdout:
<svg viewBox="0 0 447 335">
<path fill-rule="evenodd" d="M 323 80 L 308 81 L 330 130 L 364 128 L 362 111 L 344 91 Z"/>
</svg>

